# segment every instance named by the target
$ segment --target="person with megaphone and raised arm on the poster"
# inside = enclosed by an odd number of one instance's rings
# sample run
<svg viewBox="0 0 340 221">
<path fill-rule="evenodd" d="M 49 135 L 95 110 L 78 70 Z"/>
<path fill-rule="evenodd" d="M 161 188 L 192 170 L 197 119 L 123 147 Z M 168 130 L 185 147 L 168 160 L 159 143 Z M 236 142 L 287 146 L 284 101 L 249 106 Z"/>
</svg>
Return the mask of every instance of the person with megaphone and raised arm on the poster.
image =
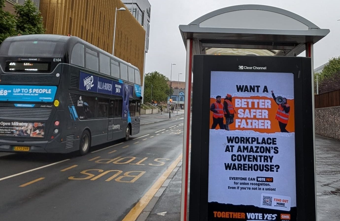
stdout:
<svg viewBox="0 0 340 221">
<path fill-rule="evenodd" d="M 289 111 L 290 111 L 290 106 L 287 103 L 287 98 L 284 98 L 281 96 L 275 97 L 273 90 L 271 90 L 271 93 L 272 93 L 274 101 L 278 105 L 275 119 L 278 121 L 278 126 L 280 127 L 280 131 L 284 133 L 289 133 L 288 130 L 286 130 L 286 126 L 288 124 L 288 118 L 289 118 Z"/>
</svg>

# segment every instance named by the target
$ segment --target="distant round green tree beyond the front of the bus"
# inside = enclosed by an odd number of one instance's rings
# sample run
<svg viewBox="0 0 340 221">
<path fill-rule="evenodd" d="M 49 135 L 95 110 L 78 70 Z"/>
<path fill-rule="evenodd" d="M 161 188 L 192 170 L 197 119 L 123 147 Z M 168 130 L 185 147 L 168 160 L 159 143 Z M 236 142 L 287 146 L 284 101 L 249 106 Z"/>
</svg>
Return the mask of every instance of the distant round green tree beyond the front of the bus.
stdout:
<svg viewBox="0 0 340 221">
<path fill-rule="evenodd" d="M 169 78 L 157 71 L 145 74 L 144 80 L 144 102 L 151 101 L 151 85 L 152 85 L 152 100 L 166 102 L 170 93 L 168 85 Z"/>
</svg>

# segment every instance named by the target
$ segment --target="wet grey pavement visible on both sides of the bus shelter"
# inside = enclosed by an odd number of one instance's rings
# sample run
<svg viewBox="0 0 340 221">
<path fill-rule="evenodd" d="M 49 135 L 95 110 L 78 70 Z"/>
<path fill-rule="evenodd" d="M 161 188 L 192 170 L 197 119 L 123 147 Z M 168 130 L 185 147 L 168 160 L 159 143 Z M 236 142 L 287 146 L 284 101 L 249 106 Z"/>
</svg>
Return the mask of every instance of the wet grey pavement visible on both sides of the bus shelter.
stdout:
<svg viewBox="0 0 340 221">
<path fill-rule="evenodd" d="M 145 116 L 141 116 L 143 119 Z M 316 135 L 318 221 L 340 220 L 340 141 Z M 181 219 L 182 161 L 136 221 Z"/>
</svg>

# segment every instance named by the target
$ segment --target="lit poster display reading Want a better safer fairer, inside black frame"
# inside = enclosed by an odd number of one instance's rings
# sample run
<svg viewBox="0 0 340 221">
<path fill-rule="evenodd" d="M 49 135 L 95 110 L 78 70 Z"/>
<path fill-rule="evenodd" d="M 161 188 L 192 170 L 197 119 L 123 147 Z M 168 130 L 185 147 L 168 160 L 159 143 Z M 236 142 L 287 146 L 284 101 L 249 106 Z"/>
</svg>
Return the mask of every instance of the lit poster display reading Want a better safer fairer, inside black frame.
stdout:
<svg viewBox="0 0 340 221">
<path fill-rule="evenodd" d="M 294 220 L 293 77 L 211 72 L 208 217 Z"/>
</svg>

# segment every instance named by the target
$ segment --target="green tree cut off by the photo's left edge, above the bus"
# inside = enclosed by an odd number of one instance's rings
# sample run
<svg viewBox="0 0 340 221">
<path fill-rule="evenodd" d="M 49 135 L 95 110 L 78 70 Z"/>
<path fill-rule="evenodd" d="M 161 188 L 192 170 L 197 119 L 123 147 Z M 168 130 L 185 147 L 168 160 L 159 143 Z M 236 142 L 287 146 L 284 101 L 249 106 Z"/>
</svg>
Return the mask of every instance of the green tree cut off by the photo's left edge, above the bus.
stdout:
<svg viewBox="0 0 340 221">
<path fill-rule="evenodd" d="M 0 44 L 5 38 L 16 35 L 15 16 L 4 11 L 5 0 L 0 0 Z"/>
</svg>

